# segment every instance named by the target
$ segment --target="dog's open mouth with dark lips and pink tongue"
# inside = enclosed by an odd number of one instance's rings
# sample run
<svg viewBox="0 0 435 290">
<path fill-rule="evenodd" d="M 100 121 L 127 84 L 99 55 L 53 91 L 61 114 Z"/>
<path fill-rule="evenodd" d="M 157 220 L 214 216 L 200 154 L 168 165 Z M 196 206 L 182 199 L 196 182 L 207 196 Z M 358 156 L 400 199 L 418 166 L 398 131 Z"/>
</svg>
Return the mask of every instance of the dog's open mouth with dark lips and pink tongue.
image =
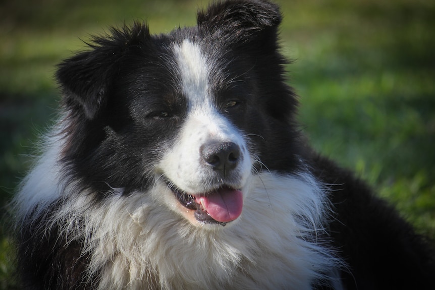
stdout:
<svg viewBox="0 0 435 290">
<path fill-rule="evenodd" d="M 170 182 L 166 183 L 185 208 L 194 211 L 196 220 L 225 226 L 242 213 L 243 193 L 231 186 L 221 186 L 207 193 L 189 194 Z"/>
</svg>

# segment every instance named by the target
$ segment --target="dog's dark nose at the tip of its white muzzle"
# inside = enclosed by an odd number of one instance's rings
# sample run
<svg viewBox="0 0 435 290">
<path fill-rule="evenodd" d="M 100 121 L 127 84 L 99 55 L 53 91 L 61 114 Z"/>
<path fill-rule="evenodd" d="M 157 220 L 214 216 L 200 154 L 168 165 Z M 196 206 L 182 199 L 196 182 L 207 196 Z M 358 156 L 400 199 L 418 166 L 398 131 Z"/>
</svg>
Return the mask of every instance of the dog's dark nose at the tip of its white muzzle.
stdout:
<svg viewBox="0 0 435 290">
<path fill-rule="evenodd" d="M 240 149 L 233 142 L 213 142 L 201 146 L 201 155 L 204 161 L 214 170 L 227 173 L 237 166 Z"/>
</svg>

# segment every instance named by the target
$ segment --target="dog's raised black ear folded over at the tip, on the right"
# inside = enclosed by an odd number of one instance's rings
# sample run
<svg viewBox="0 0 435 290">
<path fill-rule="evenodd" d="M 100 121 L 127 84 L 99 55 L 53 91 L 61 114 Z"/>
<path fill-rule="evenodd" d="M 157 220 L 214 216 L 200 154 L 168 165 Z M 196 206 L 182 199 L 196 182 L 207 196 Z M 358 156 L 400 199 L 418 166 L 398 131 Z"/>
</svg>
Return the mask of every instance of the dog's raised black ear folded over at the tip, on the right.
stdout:
<svg viewBox="0 0 435 290">
<path fill-rule="evenodd" d="M 198 26 L 205 27 L 213 37 L 232 43 L 261 44 L 264 37 L 277 37 L 282 15 L 277 5 L 259 0 L 227 0 L 217 2 L 206 11 L 199 11 Z"/>
</svg>

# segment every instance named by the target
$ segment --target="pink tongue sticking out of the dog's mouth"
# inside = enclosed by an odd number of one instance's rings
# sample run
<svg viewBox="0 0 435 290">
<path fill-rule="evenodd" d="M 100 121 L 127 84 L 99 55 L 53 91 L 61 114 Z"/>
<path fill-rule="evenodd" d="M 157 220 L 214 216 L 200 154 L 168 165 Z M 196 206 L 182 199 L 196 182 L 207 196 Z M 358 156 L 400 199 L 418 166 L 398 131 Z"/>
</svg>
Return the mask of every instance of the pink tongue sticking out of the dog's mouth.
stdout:
<svg viewBox="0 0 435 290">
<path fill-rule="evenodd" d="M 216 193 L 200 196 L 196 202 L 214 219 L 220 222 L 235 220 L 242 213 L 243 193 L 240 190 L 221 189 Z"/>
</svg>

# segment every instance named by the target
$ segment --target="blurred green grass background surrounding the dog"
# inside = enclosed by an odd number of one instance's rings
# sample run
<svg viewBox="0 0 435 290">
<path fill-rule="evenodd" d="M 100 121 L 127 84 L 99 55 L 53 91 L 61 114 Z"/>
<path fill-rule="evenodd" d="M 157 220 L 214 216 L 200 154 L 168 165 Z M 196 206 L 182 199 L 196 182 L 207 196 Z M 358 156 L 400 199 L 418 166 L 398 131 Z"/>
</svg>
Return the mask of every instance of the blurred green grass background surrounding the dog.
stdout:
<svg viewBox="0 0 435 290">
<path fill-rule="evenodd" d="M 314 147 L 356 171 L 435 238 L 435 2 L 277 1 L 283 52 Z M 0 288 L 13 281 L 8 201 L 55 116 L 55 65 L 90 34 L 144 20 L 152 33 L 195 24 L 199 0 L 0 2 Z"/>
</svg>

